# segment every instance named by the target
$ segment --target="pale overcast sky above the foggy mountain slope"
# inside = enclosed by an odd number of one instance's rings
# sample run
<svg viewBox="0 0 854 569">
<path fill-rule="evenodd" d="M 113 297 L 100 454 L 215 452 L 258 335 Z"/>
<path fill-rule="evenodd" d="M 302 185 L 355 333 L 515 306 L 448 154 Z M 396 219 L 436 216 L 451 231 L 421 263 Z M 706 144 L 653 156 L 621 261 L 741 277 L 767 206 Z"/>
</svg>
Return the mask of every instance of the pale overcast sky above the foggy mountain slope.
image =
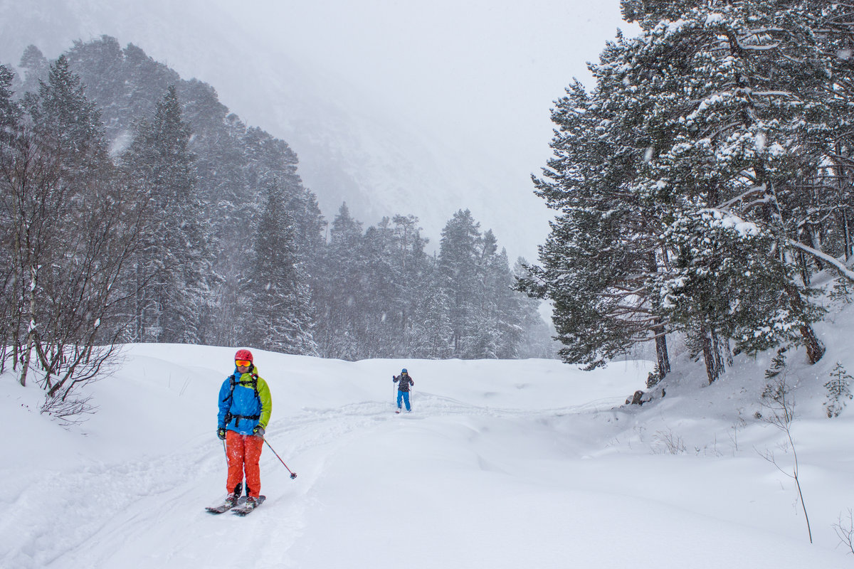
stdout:
<svg viewBox="0 0 854 569">
<path fill-rule="evenodd" d="M 389 112 L 494 144 L 528 172 L 549 155 L 553 101 L 573 77 L 589 86 L 586 63 L 617 27 L 635 29 L 618 0 L 254 0 L 229 11 Z"/>
</svg>

